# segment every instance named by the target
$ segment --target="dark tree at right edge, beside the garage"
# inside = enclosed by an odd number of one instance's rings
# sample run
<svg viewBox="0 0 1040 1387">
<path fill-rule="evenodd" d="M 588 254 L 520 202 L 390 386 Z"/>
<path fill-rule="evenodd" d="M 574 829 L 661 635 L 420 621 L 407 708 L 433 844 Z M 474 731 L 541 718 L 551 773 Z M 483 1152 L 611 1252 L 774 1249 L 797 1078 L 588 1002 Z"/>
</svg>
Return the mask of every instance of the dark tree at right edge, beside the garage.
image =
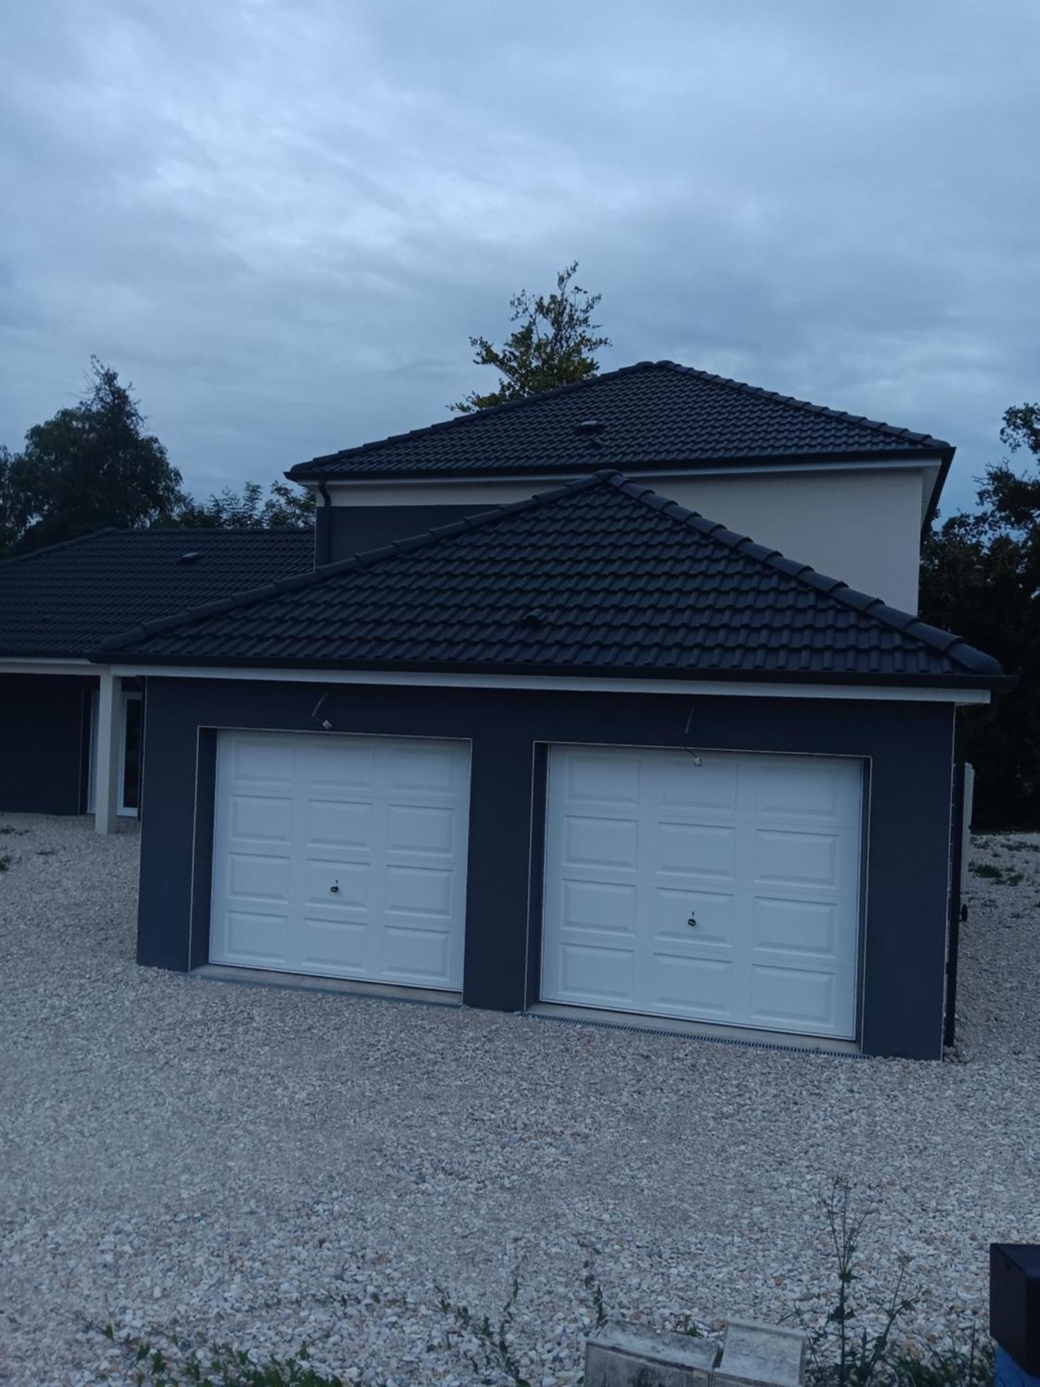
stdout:
<svg viewBox="0 0 1040 1387">
<path fill-rule="evenodd" d="M 1001 441 L 1040 462 L 1040 406 L 1004 413 Z M 979 512 L 951 516 L 925 544 L 921 614 L 994 655 L 1019 681 L 960 716 L 976 770 L 980 828 L 1040 828 L 1040 474 L 991 463 Z"/>
</svg>

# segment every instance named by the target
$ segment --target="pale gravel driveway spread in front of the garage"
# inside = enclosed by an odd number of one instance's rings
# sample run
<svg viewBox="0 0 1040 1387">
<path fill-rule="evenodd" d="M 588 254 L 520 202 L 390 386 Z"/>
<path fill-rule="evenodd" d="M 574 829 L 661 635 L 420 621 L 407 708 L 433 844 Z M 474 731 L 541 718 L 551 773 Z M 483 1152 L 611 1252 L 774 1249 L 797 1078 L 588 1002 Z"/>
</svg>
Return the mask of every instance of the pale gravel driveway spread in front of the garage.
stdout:
<svg viewBox="0 0 1040 1387">
<path fill-rule="evenodd" d="M 1034 838 L 978 850 L 1022 881 L 973 878 L 967 1062 L 911 1064 L 137 968 L 136 834 L 0 824 L 0 1381 L 123 1380 L 111 1322 L 469 1383 L 437 1286 L 496 1316 L 516 1272 L 519 1356 L 571 1383 L 587 1265 L 652 1325 L 818 1312 L 833 1173 L 919 1332 L 1040 1240 Z"/>
</svg>

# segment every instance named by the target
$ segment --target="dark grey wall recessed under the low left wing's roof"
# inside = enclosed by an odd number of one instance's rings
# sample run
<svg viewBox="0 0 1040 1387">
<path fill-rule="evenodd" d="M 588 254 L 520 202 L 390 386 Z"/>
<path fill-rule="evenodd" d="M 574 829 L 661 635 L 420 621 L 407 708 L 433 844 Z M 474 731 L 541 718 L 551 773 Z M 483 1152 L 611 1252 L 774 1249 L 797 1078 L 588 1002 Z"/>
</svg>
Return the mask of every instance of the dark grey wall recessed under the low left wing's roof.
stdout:
<svg viewBox="0 0 1040 1387">
<path fill-rule="evenodd" d="M 82 814 L 96 678 L 0 674 L 0 810 Z"/>
</svg>

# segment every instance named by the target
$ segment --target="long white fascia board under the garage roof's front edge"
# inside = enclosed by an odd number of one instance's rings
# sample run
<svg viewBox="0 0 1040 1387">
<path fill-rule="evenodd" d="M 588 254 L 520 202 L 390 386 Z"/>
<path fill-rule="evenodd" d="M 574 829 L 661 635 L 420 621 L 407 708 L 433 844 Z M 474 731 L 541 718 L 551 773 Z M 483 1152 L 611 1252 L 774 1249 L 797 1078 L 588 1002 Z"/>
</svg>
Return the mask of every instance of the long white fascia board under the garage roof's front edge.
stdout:
<svg viewBox="0 0 1040 1387">
<path fill-rule="evenodd" d="M 449 674 L 419 670 L 295 670 L 193 664 L 116 664 L 119 678 L 259 680 L 275 684 L 394 684 L 413 688 L 549 689 L 567 694 L 706 694 L 728 698 L 858 699 L 885 703 L 989 703 L 989 689 L 886 688 L 868 684 L 745 684 L 722 680 L 571 678 L 566 674 Z"/>
</svg>

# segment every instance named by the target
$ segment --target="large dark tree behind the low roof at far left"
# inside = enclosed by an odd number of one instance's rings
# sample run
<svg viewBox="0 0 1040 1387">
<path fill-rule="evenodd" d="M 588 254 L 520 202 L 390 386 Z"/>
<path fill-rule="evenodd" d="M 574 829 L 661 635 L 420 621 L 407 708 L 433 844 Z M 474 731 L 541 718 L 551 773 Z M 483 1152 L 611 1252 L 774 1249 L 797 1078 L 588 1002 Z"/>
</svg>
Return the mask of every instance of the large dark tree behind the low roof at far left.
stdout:
<svg viewBox="0 0 1040 1387">
<path fill-rule="evenodd" d="M 180 473 L 144 431 L 144 416 L 111 366 L 90 358 L 90 393 L 33 424 L 6 456 L 4 530 L 14 552 L 73 540 L 105 526 L 137 528 L 171 517 Z"/>
</svg>

